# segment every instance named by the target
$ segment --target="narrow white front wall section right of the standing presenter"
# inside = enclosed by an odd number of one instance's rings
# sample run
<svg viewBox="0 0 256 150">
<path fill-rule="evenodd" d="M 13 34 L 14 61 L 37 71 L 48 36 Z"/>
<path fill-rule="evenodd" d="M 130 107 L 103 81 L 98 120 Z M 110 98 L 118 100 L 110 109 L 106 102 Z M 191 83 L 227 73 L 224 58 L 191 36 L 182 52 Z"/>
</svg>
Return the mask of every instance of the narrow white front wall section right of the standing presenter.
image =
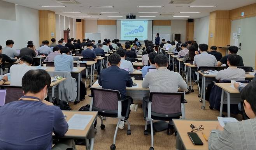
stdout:
<svg viewBox="0 0 256 150">
<path fill-rule="evenodd" d="M 181 34 L 181 42 L 184 43 L 186 39 L 186 20 L 172 20 L 172 30 L 171 30 L 171 39 L 172 35 Z"/>
</svg>

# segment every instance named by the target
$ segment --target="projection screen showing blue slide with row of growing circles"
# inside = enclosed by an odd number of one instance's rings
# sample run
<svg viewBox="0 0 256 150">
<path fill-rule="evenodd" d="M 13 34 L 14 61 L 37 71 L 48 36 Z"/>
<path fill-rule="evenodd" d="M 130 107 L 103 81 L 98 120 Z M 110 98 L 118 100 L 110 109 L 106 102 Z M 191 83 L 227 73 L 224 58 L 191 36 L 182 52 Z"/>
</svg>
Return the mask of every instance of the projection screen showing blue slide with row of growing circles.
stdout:
<svg viewBox="0 0 256 150">
<path fill-rule="evenodd" d="M 122 41 L 139 41 L 152 39 L 152 21 L 151 20 L 118 20 L 116 26 L 116 37 Z"/>
</svg>

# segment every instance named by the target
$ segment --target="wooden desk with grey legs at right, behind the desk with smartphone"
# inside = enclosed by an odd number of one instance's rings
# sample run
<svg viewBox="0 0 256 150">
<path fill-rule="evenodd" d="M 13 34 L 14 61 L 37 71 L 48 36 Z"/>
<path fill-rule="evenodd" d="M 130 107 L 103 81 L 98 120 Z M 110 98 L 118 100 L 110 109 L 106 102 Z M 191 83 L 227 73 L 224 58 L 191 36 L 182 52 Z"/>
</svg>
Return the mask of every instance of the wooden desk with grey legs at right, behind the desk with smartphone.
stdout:
<svg viewBox="0 0 256 150">
<path fill-rule="evenodd" d="M 221 91 L 221 108 L 219 110 L 219 116 L 222 116 L 223 104 L 228 105 L 228 117 L 230 117 L 230 104 L 238 104 L 242 100 L 240 93 L 237 89 L 230 87 L 231 83 L 215 83 L 222 89 Z M 247 84 L 246 84 L 247 85 Z M 226 95 L 224 95 L 226 94 Z"/>
</svg>

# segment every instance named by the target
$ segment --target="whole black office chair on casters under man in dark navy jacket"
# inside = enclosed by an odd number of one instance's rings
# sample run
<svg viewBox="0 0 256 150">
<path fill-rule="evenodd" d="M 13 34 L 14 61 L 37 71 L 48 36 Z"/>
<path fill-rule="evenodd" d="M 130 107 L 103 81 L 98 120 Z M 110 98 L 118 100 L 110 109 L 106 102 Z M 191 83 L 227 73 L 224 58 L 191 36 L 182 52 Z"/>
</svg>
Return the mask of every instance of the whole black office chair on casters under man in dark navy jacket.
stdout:
<svg viewBox="0 0 256 150">
<path fill-rule="evenodd" d="M 103 119 L 101 116 L 117 118 L 118 122 L 116 125 L 116 131 L 114 134 L 113 144 L 110 146 L 111 150 L 116 149 L 116 135 L 118 126 L 121 120 L 125 120 L 125 116 L 122 116 L 122 100 L 119 91 L 110 90 L 110 89 L 99 89 L 91 87 L 91 105 L 90 111 L 97 111 L 98 117 L 101 120 L 101 129 L 105 129 L 105 125 L 103 124 Z M 128 106 L 130 106 L 131 101 L 128 102 Z M 126 110 L 126 115 L 130 109 Z M 130 123 L 128 120 L 125 120 L 128 124 L 127 135 L 131 134 Z"/>
</svg>

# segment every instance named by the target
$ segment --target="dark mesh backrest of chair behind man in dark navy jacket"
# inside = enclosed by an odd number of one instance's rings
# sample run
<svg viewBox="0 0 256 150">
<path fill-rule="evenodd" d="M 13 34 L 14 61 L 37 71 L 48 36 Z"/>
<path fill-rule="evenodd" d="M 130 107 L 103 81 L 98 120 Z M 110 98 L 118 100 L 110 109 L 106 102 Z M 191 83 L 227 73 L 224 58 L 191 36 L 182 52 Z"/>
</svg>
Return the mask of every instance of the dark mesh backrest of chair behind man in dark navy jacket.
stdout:
<svg viewBox="0 0 256 150">
<path fill-rule="evenodd" d="M 115 92 L 93 90 L 93 106 L 103 110 L 118 110 L 118 98 Z"/>
</svg>

